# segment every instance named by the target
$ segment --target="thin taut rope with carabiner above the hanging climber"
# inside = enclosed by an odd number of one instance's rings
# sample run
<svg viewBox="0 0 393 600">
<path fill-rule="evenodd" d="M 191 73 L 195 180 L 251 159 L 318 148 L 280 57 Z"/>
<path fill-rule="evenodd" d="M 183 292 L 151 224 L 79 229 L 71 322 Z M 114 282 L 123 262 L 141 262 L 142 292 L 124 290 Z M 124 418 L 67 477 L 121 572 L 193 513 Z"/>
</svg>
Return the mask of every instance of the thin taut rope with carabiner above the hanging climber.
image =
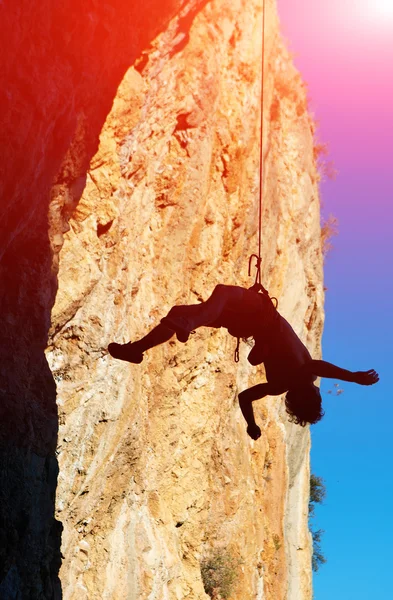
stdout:
<svg viewBox="0 0 393 600">
<path fill-rule="evenodd" d="M 262 0 L 262 52 L 261 52 L 261 125 L 260 125 L 260 138 L 259 138 L 259 209 L 258 209 L 258 254 L 251 254 L 248 261 L 248 275 L 251 275 L 251 263 L 252 259 L 256 259 L 256 276 L 255 286 L 260 286 L 260 289 L 264 293 L 268 293 L 262 285 L 261 280 L 261 249 L 262 249 L 262 202 L 263 202 L 263 107 L 264 107 L 264 83 L 265 83 L 265 0 Z"/>
</svg>

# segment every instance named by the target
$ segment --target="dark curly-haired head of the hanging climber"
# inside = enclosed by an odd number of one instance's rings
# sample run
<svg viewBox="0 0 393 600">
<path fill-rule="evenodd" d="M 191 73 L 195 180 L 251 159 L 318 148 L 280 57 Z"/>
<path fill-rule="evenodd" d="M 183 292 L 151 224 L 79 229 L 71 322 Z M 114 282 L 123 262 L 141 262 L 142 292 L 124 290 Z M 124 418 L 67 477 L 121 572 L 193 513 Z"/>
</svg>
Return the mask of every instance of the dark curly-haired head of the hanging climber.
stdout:
<svg viewBox="0 0 393 600">
<path fill-rule="evenodd" d="M 325 414 L 322 409 L 321 393 L 313 383 L 288 390 L 285 396 L 285 407 L 289 420 L 302 427 L 307 423 L 317 423 Z"/>
</svg>

